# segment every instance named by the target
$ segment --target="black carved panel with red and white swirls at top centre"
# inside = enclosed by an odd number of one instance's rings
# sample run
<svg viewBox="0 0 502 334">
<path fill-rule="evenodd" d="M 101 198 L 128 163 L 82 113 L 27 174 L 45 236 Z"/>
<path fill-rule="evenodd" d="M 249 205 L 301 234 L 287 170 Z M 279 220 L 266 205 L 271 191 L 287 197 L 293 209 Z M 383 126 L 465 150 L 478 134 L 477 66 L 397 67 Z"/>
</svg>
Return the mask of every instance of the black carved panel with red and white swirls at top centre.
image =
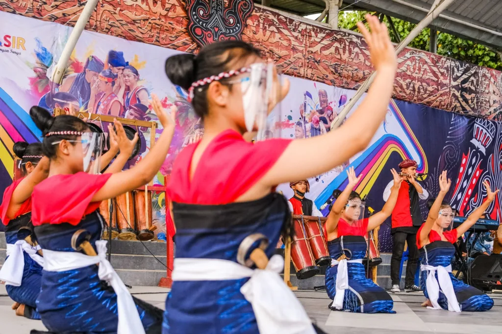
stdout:
<svg viewBox="0 0 502 334">
<path fill-rule="evenodd" d="M 187 0 L 188 34 L 199 45 L 240 40 L 244 23 L 255 6 L 250 0 Z"/>
</svg>

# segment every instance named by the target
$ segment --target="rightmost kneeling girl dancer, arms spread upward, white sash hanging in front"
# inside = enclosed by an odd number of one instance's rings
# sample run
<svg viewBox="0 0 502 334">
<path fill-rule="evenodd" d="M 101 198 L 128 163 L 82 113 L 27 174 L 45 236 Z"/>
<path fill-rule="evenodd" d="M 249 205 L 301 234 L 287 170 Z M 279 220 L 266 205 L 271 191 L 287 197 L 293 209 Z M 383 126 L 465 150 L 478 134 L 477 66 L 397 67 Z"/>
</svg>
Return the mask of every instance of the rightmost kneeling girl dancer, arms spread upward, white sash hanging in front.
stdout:
<svg viewBox="0 0 502 334">
<path fill-rule="evenodd" d="M 491 191 L 487 181 L 486 200 L 474 210 L 457 228 L 453 224 L 453 210 L 443 198 L 450 189 L 451 180 L 446 171 L 439 176 L 440 191 L 429 210 L 429 216 L 417 233 L 417 247 L 422 258 L 421 285 L 427 298 L 424 306 L 450 311 L 487 311 L 493 306 L 493 299 L 482 291 L 465 284 L 451 273 L 451 261 L 455 255 L 453 244 L 459 235 L 465 233 L 486 211 L 495 198 L 498 189 Z"/>
</svg>

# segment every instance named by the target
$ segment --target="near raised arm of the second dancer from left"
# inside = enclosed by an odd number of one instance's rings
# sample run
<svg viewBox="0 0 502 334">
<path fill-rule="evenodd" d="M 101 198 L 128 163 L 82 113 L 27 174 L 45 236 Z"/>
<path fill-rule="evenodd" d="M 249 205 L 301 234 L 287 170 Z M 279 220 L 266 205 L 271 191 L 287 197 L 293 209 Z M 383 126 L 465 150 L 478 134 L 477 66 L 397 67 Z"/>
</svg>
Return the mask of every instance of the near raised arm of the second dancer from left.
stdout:
<svg viewBox="0 0 502 334">
<path fill-rule="evenodd" d="M 147 184 L 154 178 L 166 160 L 174 134 L 176 107 L 171 108 L 171 116 L 169 116 L 162 108 L 156 95 L 152 95 L 152 106 L 159 122 L 164 127 L 164 131 L 150 152 L 134 168 L 112 174 L 104 186 L 92 197 L 93 202 L 113 198 Z"/>
</svg>

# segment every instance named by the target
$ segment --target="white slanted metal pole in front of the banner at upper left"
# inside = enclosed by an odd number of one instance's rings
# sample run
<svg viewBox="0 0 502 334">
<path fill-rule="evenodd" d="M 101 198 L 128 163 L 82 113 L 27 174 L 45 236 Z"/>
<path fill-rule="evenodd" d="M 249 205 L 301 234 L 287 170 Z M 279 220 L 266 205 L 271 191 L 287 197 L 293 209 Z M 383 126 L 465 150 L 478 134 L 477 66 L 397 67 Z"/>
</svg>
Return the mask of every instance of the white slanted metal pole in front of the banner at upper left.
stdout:
<svg viewBox="0 0 502 334">
<path fill-rule="evenodd" d="M 63 49 L 63 52 L 61 53 L 61 57 L 59 57 L 59 61 L 56 65 L 56 70 L 54 71 L 54 74 L 52 75 L 52 82 L 56 84 L 60 84 L 61 80 L 63 79 L 64 72 L 66 71 L 66 65 L 68 64 L 68 60 L 70 59 L 71 53 L 73 52 L 73 49 L 75 48 L 75 45 L 77 44 L 77 41 L 82 34 L 82 31 L 85 28 L 85 25 L 89 21 L 89 18 L 94 11 L 94 8 L 96 8 L 96 4 L 99 0 L 87 0 L 87 4 L 85 4 L 84 9 L 82 10 L 82 13 L 80 13 L 80 17 L 77 20 L 77 23 L 75 24 L 75 27 L 73 28 L 70 37 L 68 38 L 68 42 L 66 42 L 66 45 Z"/>
</svg>

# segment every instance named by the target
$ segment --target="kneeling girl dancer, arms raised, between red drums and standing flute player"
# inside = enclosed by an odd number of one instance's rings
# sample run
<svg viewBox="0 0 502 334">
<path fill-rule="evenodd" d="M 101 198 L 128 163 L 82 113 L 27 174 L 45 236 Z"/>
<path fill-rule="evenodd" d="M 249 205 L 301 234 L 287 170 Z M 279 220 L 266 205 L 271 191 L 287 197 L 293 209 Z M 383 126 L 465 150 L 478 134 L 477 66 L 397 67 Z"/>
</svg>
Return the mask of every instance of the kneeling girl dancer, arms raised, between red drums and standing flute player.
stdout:
<svg viewBox="0 0 502 334">
<path fill-rule="evenodd" d="M 333 301 L 329 307 L 361 313 L 395 313 L 389 293 L 366 278 L 362 259 L 366 256 L 364 236 L 392 214 L 403 178 L 391 169 L 394 184 L 382 211 L 360 219 L 361 197 L 352 191 L 359 182 L 354 168 L 347 171 L 348 185 L 336 199 L 325 224 L 331 266 L 326 270 L 326 291 Z"/>
</svg>

